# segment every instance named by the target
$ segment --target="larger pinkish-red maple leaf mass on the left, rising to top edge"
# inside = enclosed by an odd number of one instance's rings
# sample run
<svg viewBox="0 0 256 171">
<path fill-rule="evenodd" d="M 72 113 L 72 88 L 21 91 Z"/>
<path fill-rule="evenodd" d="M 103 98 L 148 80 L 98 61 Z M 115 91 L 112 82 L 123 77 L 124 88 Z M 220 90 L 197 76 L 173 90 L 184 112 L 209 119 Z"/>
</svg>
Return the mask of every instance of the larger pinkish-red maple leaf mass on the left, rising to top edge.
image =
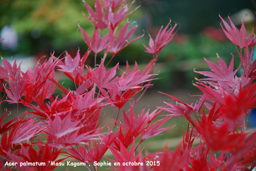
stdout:
<svg viewBox="0 0 256 171">
<path fill-rule="evenodd" d="M 156 43 L 150 43 L 154 50 L 149 53 L 153 53 L 154 58 L 144 70 L 139 70 L 136 62 L 133 69 L 127 62 L 126 71 L 120 70 L 119 64 L 107 68 L 120 50 L 142 37 L 128 40 L 138 27 L 135 24 L 129 30 L 129 20 L 120 31 L 118 29 L 120 23 L 138 7 L 130 10 L 134 0 L 95 0 L 94 9 L 83 2 L 88 11 L 84 16 L 95 27 L 91 38 L 78 24 L 82 33 L 80 37 L 88 46 L 85 54 L 81 55 L 78 50 L 74 57 L 68 52 L 56 57 L 52 53 L 48 60 L 40 62 L 40 59 L 34 69 L 26 72 L 21 71 L 16 60 L 11 65 L 2 59 L 0 91 L 4 92 L 4 97 L 0 103 L 17 105 L 17 116 L 11 113 L 14 119 L 6 121 L 10 115 L 7 110 L 0 118 L 0 167 L 3 170 L 49 171 L 58 167 L 49 163 L 59 163 L 68 157 L 83 163 L 86 161 L 85 167 L 90 171 L 98 170 L 92 163 L 99 162 L 108 149 L 115 157 L 120 157 L 118 152 L 127 154 L 118 161 L 137 160 L 138 157 L 134 157 L 138 147 L 135 148 L 134 140 L 137 137 L 141 143 L 172 128 L 160 128 L 170 116 L 154 120 L 162 109 L 143 110 L 138 114 L 134 113 L 133 107 L 140 99 L 136 95 L 144 94 L 152 86 L 151 81 L 156 79 L 154 66 L 158 53 L 174 36 L 172 32 L 176 25 L 166 30 L 169 23 L 163 32 L 160 30 Z M 103 35 L 105 32 L 107 34 Z M 164 43 L 157 43 L 159 41 Z M 95 54 L 95 66 L 86 64 L 91 51 Z M 104 56 L 100 64 L 96 64 L 101 51 L 104 51 Z M 111 59 L 108 59 L 108 54 L 113 55 Z M 62 86 L 63 76 L 74 82 L 74 89 Z M 56 89 L 61 92 L 58 96 L 54 95 Z M 130 108 L 126 111 L 124 105 L 128 102 Z M 25 106 L 27 110 L 19 113 L 19 106 Z M 113 108 L 113 120 L 102 126 L 100 123 L 104 118 L 100 112 L 106 106 Z M 126 149 L 131 144 L 132 149 L 127 153 Z M 10 166 L 6 164 L 8 162 L 45 162 L 46 165 Z"/>
</svg>

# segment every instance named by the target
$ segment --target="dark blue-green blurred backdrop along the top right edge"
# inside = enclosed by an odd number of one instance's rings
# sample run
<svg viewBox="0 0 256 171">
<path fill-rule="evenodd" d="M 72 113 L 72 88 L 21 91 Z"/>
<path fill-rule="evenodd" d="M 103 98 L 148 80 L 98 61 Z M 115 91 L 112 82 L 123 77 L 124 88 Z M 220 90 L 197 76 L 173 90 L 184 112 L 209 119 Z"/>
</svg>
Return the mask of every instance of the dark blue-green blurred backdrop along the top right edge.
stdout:
<svg viewBox="0 0 256 171">
<path fill-rule="evenodd" d="M 147 1 L 147 0 L 144 0 Z M 248 8 L 255 11 L 255 0 L 150 0 L 148 15 L 152 25 L 162 25 L 169 17 L 181 24 L 180 32 L 198 33 L 205 26 L 220 26 L 218 15 L 228 16 Z"/>
</svg>

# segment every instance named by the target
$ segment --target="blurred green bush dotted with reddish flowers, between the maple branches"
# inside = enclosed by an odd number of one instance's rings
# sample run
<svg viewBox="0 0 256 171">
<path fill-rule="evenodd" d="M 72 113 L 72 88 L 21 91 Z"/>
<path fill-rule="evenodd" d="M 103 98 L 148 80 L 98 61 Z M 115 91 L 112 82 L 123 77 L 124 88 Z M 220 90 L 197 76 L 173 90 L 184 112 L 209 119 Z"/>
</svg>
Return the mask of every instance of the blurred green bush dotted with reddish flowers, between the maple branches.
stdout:
<svg viewBox="0 0 256 171">
<path fill-rule="evenodd" d="M 228 40 L 218 42 L 199 33 L 188 36 L 188 40 L 184 44 L 170 42 L 160 54 L 160 60 L 202 59 L 203 57 L 215 57 L 216 53 L 226 58 L 230 57 L 230 53 L 234 52 L 236 52 L 235 45 Z"/>
</svg>

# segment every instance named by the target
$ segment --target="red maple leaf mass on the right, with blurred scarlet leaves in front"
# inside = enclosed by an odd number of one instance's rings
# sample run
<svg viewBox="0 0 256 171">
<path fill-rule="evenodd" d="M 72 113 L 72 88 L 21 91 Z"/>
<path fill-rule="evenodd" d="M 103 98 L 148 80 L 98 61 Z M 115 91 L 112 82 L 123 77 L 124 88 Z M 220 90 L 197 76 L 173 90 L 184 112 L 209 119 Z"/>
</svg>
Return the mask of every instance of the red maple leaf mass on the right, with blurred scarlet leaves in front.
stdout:
<svg viewBox="0 0 256 171">
<path fill-rule="evenodd" d="M 187 104 L 166 94 L 176 103 L 165 102 L 166 107 L 160 108 L 170 112 L 169 116 L 181 116 L 189 121 L 181 143 L 183 148 L 177 148 L 178 159 L 172 159 L 181 165 L 174 170 L 244 171 L 256 166 L 256 131 L 247 130 L 250 110 L 256 107 L 256 63 L 253 60 L 256 37 L 253 30 L 247 35 L 243 21 L 238 30 L 229 17 L 231 26 L 221 16 L 220 19 L 226 37 L 238 46 L 240 66 L 234 68 L 233 54 L 229 65 L 216 54 L 218 64 L 205 59 L 210 72 L 194 70 L 204 76 L 196 78 L 194 84 L 202 91 L 196 103 Z M 242 69 L 240 76 L 239 68 Z M 195 139 L 200 140 L 197 146 Z M 168 149 L 161 153 L 174 155 Z"/>
</svg>

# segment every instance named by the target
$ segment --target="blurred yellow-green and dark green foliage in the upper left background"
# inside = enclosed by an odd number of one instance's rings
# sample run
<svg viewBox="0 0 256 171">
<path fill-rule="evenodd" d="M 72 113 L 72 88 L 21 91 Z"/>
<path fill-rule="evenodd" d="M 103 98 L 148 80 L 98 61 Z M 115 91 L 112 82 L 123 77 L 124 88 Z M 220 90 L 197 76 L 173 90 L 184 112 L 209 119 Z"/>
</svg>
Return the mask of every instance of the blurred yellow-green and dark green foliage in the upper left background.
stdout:
<svg viewBox="0 0 256 171">
<path fill-rule="evenodd" d="M 93 0 L 87 3 L 94 8 Z M 15 52 L 27 55 L 49 54 L 51 50 L 61 54 L 65 50 L 78 50 L 79 46 L 85 51 L 87 48 L 78 36 L 78 22 L 89 35 L 94 30 L 82 14 L 87 14 L 82 0 L 2 0 L 0 12 L 0 28 L 12 25 L 18 32 L 20 44 Z M 139 9 L 131 17 L 138 18 L 140 14 Z"/>
</svg>

